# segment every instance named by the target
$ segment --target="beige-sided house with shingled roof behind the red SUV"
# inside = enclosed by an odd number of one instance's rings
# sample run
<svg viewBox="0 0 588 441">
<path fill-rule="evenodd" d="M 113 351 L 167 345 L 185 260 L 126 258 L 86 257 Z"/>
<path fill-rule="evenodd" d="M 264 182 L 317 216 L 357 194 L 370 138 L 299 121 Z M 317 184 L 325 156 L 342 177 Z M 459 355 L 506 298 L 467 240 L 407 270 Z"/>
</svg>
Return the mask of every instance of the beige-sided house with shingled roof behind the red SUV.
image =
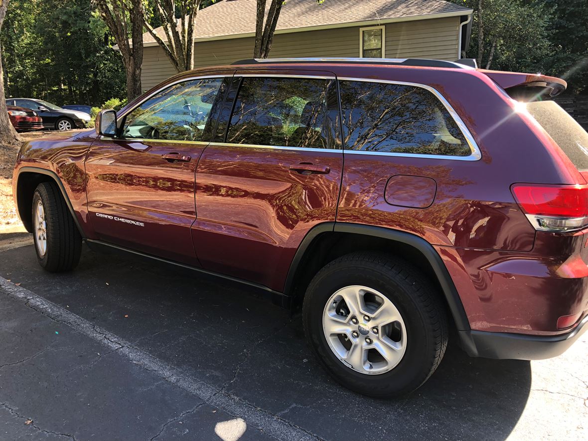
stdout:
<svg viewBox="0 0 588 441">
<path fill-rule="evenodd" d="M 195 67 L 252 58 L 255 15 L 256 0 L 221 0 L 199 11 Z M 471 18 L 472 9 L 443 0 L 288 0 L 270 56 L 454 61 L 469 44 Z M 163 29 L 156 31 L 165 40 Z M 151 35 L 143 45 L 141 81 L 149 89 L 176 72 Z"/>
</svg>

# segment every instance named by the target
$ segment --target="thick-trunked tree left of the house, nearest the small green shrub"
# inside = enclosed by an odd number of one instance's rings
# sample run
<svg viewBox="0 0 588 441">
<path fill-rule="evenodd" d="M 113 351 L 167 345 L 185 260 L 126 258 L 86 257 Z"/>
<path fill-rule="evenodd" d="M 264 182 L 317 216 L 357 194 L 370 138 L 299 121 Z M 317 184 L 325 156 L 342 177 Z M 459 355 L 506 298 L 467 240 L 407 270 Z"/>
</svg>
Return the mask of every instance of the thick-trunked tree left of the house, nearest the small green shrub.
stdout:
<svg viewBox="0 0 588 441">
<path fill-rule="evenodd" d="M 141 95 L 143 64 L 143 1 L 94 0 L 102 19 L 114 36 L 126 72 L 126 96 L 129 101 Z M 130 26 L 130 29 L 129 29 Z M 131 42 L 129 42 L 129 35 Z"/>
</svg>

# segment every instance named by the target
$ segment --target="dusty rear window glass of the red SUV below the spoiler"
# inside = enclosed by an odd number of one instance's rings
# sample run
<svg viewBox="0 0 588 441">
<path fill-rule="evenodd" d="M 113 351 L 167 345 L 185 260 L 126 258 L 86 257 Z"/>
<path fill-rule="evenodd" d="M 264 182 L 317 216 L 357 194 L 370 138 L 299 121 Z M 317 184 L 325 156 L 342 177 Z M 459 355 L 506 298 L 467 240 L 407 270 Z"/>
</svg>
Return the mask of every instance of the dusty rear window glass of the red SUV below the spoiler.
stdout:
<svg viewBox="0 0 588 441">
<path fill-rule="evenodd" d="M 582 126 L 554 101 L 530 102 L 526 108 L 576 168 L 588 170 L 588 133 Z"/>
</svg>

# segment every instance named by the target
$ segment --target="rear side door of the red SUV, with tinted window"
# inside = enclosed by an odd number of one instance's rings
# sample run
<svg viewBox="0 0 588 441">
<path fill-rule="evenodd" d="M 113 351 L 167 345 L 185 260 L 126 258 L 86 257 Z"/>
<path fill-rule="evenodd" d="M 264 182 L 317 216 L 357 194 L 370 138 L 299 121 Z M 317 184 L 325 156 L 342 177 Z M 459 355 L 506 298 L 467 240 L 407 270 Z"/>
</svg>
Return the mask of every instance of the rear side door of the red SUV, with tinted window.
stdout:
<svg viewBox="0 0 588 441">
<path fill-rule="evenodd" d="M 339 126 L 331 72 L 235 77 L 196 172 L 205 269 L 283 289 L 306 233 L 336 218 Z"/>
</svg>

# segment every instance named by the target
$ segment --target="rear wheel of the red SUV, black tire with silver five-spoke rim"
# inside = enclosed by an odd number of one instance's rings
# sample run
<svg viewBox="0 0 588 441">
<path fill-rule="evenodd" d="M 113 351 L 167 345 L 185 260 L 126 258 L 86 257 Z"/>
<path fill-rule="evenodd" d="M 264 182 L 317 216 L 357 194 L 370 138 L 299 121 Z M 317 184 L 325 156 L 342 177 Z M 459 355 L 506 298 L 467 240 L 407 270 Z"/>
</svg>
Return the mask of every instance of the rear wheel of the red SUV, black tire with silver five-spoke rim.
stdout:
<svg viewBox="0 0 588 441">
<path fill-rule="evenodd" d="M 352 323 L 353 305 L 342 302 L 345 298 L 350 303 L 363 298 L 358 324 Z M 394 321 L 382 325 L 385 314 L 387 321 Z M 339 331 L 339 320 L 344 333 L 325 330 Z M 333 322 L 337 328 L 329 328 Z M 330 375 L 355 392 L 377 398 L 417 389 L 435 372 L 447 347 L 447 314 L 440 293 L 419 270 L 385 253 L 351 253 L 322 268 L 306 290 L 303 324 L 310 346 Z M 370 349 L 353 358 L 358 344 Z M 344 362 L 345 354 L 359 363 Z"/>
</svg>

